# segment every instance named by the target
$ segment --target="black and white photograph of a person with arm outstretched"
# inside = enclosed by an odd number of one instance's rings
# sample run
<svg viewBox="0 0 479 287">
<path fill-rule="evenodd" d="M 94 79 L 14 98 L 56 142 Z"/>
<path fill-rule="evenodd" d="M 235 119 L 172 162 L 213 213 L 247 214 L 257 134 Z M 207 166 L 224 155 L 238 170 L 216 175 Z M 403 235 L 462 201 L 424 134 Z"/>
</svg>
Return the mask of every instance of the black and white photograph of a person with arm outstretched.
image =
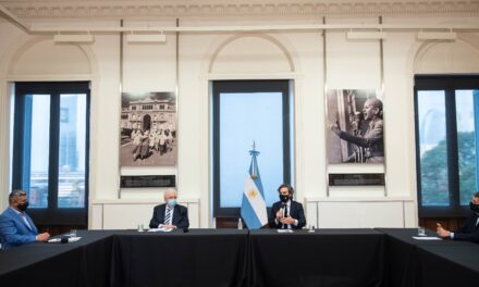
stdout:
<svg viewBox="0 0 479 287">
<path fill-rule="evenodd" d="M 373 89 L 327 92 L 327 157 L 330 164 L 384 163 L 382 100 Z"/>
</svg>

